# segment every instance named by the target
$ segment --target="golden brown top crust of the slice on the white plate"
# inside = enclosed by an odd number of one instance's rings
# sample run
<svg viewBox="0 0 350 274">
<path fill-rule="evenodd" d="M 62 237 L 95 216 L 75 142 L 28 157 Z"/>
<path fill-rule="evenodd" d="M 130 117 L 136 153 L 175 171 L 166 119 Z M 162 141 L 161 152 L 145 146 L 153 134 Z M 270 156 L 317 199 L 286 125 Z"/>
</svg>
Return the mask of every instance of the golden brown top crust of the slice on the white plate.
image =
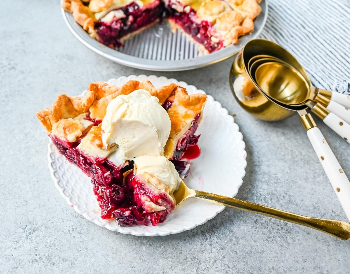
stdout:
<svg viewBox="0 0 350 274">
<path fill-rule="evenodd" d="M 165 156 L 172 158 L 178 140 L 188 131 L 198 114 L 203 111 L 207 96 L 205 94 L 188 95 L 187 91 L 176 84 L 156 88 L 149 81 L 130 80 L 123 86 L 108 85 L 104 82 L 91 83 L 84 98 L 58 96 L 52 106 L 39 111 L 36 115 L 49 134 L 74 142 L 84 136 L 79 149 L 94 157 L 107 157 L 115 147 L 103 149 L 102 129 L 92 126 L 89 119 L 103 120 L 109 102 L 121 94 L 144 89 L 158 97 L 159 103 L 169 100 L 172 105 L 167 110 L 172 123 Z M 67 128 L 69 125 L 71 129 Z M 91 129 L 90 129 L 91 128 Z M 52 131 L 52 132 L 51 132 Z M 84 135 L 87 132 L 86 135 Z"/>
</svg>

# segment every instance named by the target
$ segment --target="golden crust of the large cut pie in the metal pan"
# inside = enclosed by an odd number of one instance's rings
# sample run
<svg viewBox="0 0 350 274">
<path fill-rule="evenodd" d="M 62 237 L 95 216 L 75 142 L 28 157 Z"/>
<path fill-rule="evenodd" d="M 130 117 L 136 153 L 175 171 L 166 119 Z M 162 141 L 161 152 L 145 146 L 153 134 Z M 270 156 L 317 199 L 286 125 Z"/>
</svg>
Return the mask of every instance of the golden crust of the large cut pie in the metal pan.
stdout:
<svg viewBox="0 0 350 274">
<path fill-rule="evenodd" d="M 210 33 L 211 43 L 218 45 L 220 41 L 223 41 L 223 47 L 229 44 L 236 44 L 239 36 L 251 33 L 254 29 L 253 20 L 261 13 L 259 5 L 261 0 L 191 0 L 182 2 L 184 5 L 182 11 L 186 10 L 186 8 L 198 6 L 198 8 L 195 8 L 196 10 L 198 9 L 196 13 L 198 18 L 209 21 L 214 25 L 214 31 Z M 98 35 L 94 29 L 94 21 L 101 16 L 98 14 L 112 9 L 112 5 L 113 0 L 91 0 L 89 6 L 85 6 L 81 0 L 63 0 L 62 2 L 64 10 L 72 13 L 76 22 L 96 40 L 98 40 Z M 156 23 L 156 21 L 153 23 Z M 174 25 L 174 22 L 171 25 Z M 175 25 L 176 28 L 182 29 L 177 24 Z M 120 40 L 124 41 L 144 28 L 130 33 Z M 196 42 L 193 37 L 189 37 Z M 207 51 L 202 44 L 200 45 L 204 51 Z M 113 48 L 113 45 L 109 46 Z"/>
</svg>

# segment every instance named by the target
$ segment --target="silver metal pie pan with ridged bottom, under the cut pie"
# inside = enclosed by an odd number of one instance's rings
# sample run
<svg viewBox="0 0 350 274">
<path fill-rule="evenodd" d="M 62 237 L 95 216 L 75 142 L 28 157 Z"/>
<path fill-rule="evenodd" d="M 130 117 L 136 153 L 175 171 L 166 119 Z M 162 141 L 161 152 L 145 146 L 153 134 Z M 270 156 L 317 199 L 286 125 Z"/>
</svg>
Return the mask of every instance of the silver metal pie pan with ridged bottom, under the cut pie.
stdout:
<svg viewBox="0 0 350 274">
<path fill-rule="evenodd" d="M 250 40 L 256 38 L 265 25 L 268 13 L 267 0 L 260 3 L 261 13 L 254 20 L 254 31 L 241 36 L 238 43 L 211 54 L 198 51 L 182 31 L 172 32 L 167 22 L 155 24 L 127 39 L 124 48 L 111 49 L 94 40 L 74 20 L 71 13 L 62 9 L 62 15 L 72 34 L 92 51 L 122 65 L 153 71 L 180 71 L 201 68 L 235 55 Z M 198 56 L 198 54 L 203 56 Z"/>
</svg>

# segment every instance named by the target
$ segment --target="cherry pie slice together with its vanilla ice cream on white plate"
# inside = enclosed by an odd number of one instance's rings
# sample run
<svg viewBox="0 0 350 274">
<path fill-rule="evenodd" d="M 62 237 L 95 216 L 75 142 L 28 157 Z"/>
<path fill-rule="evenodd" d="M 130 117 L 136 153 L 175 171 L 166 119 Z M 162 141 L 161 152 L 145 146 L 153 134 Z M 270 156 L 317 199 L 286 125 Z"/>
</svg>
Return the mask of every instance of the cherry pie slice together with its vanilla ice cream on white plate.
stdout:
<svg viewBox="0 0 350 274">
<path fill-rule="evenodd" d="M 189 172 L 186 153 L 198 150 L 206 99 L 176 84 L 95 82 L 84 98 L 61 94 L 37 118 L 66 159 L 92 178 L 103 219 L 157 225 L 174 210 L 173 192 Z"/>
</svg>

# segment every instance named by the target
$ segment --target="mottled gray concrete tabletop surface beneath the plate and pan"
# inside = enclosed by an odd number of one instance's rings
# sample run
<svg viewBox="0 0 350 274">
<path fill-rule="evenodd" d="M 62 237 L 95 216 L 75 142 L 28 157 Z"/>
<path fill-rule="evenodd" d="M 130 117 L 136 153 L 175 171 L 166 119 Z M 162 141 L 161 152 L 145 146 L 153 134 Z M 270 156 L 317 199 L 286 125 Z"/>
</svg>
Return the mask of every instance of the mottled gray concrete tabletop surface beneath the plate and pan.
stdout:
<svg viewBox="0 0 350 274">
<path fill-rule="evenodd" d="M 1 273 L 349 273 L 350 241 L 234 209 L 191 231 L 153 238 L 84 219 L 54 186 L 48 138 L 35 113 L 62 92 L 80 94 L 90 82 L 131 74 L 183 80 L 237 115 L 248 155 L 238 198 L 309 216 L 346 217 L 297 117 L 263 122 L 238 106 L 228 85 L 232 58 L 188 72 L 127 68 L 80 44 L 58 0 L 5 1 L 0 26 Z M 319 124 L 350 174 L 349 145 Z"/>
</svg>

